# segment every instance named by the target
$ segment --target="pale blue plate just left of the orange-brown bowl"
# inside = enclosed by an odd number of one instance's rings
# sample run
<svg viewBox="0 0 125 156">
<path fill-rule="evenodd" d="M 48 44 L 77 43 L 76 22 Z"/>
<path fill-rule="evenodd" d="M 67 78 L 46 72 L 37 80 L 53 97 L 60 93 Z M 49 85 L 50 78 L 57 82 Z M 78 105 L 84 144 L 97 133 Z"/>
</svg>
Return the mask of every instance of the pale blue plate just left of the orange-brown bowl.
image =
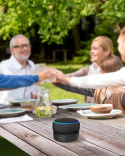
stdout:
<svg viewBox="0 0 125 156">
<path fill-rule="evenodd" d="M 78 103 L 65 105 L 66 108 L 70 110 L 81 110 L 81 109 L 90 109 L 90 106 L 97 105 L 96 103 Z"/>
</svg>

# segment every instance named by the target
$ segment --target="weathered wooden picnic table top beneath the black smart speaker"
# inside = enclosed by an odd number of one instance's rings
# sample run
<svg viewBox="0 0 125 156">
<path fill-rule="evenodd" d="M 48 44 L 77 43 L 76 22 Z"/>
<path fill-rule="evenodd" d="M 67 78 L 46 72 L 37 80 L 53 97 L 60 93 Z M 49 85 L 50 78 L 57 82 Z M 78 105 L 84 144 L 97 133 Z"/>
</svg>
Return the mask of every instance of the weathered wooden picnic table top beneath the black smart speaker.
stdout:
<svg viewBox="0 0 125 156">
<path fill-rule="evenodd" d="M 88 119 L 74 111 L 59 109 L 52 117 L 0 125 L 0 135 L 32 156 L 123 156 L 125 155 L 125 116 Z M 64 143 L 53 139 L 52 122 L 57 118 L 76 118 L 79 139 Z"/>
</svg>

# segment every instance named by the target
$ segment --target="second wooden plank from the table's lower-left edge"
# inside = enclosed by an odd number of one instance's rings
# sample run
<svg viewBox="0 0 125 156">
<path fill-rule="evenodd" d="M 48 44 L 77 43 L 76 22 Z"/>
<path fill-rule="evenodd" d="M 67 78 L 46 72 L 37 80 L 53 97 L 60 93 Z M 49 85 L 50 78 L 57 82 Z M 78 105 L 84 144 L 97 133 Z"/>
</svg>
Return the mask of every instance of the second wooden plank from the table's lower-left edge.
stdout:
<svg viewBox="0 0 125 156">
<path fill-rule="evenodd" d="M 28 123 L 28 122 L 27 122 Z M 64 148 L 55 142 L 19 125 L 18 123 L 10 123 L 9 125 L 1 125 L 7 131 L 10 131 L 13 135 L 19 137 L 26 143 L 32 145 L 36 149 L 49 156 L 78 156 L 78 154 Z M 61 152 L 60 152 L 61 151 Z"/>
</svg>

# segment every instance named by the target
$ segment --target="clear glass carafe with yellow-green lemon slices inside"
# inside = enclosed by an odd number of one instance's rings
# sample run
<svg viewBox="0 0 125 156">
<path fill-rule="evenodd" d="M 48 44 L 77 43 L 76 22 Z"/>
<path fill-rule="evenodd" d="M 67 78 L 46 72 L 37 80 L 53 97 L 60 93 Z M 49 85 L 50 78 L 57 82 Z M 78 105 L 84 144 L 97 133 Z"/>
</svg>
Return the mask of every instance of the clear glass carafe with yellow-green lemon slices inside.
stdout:
<svg viewBox="0 0 125 156">
<path fill-rule="evenodd" d="M 38 117 L 51 117 L 53 114 L 51 101 L 49 98 L 49 89 L 39 88 L 37 91 L 37 100 L 35 115 Z"/>
</svg>

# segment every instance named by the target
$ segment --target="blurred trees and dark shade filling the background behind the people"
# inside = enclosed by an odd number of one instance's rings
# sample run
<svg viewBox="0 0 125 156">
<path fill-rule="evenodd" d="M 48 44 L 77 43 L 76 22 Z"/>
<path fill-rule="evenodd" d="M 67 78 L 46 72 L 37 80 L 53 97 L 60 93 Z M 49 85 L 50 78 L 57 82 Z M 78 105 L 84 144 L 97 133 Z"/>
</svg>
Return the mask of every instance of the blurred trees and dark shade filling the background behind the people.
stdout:
<svg viewBox="0 0 125 156">
<path fill-rule="evenodd" d="M 119 55 L 124 10 L 125 0 L 1 0 L 0 60 L 10 57 L 9 41 L 16 34 L 30 39 L 35 63 L 53 63 L 53 51 L 60 49 L 68 50 L 70 63 L 90 63 L 91 41 L 102 35 L 112 39 Z M 61 52 L 56 53 L 56 62 L 60 61 Z"/>
</svg>

